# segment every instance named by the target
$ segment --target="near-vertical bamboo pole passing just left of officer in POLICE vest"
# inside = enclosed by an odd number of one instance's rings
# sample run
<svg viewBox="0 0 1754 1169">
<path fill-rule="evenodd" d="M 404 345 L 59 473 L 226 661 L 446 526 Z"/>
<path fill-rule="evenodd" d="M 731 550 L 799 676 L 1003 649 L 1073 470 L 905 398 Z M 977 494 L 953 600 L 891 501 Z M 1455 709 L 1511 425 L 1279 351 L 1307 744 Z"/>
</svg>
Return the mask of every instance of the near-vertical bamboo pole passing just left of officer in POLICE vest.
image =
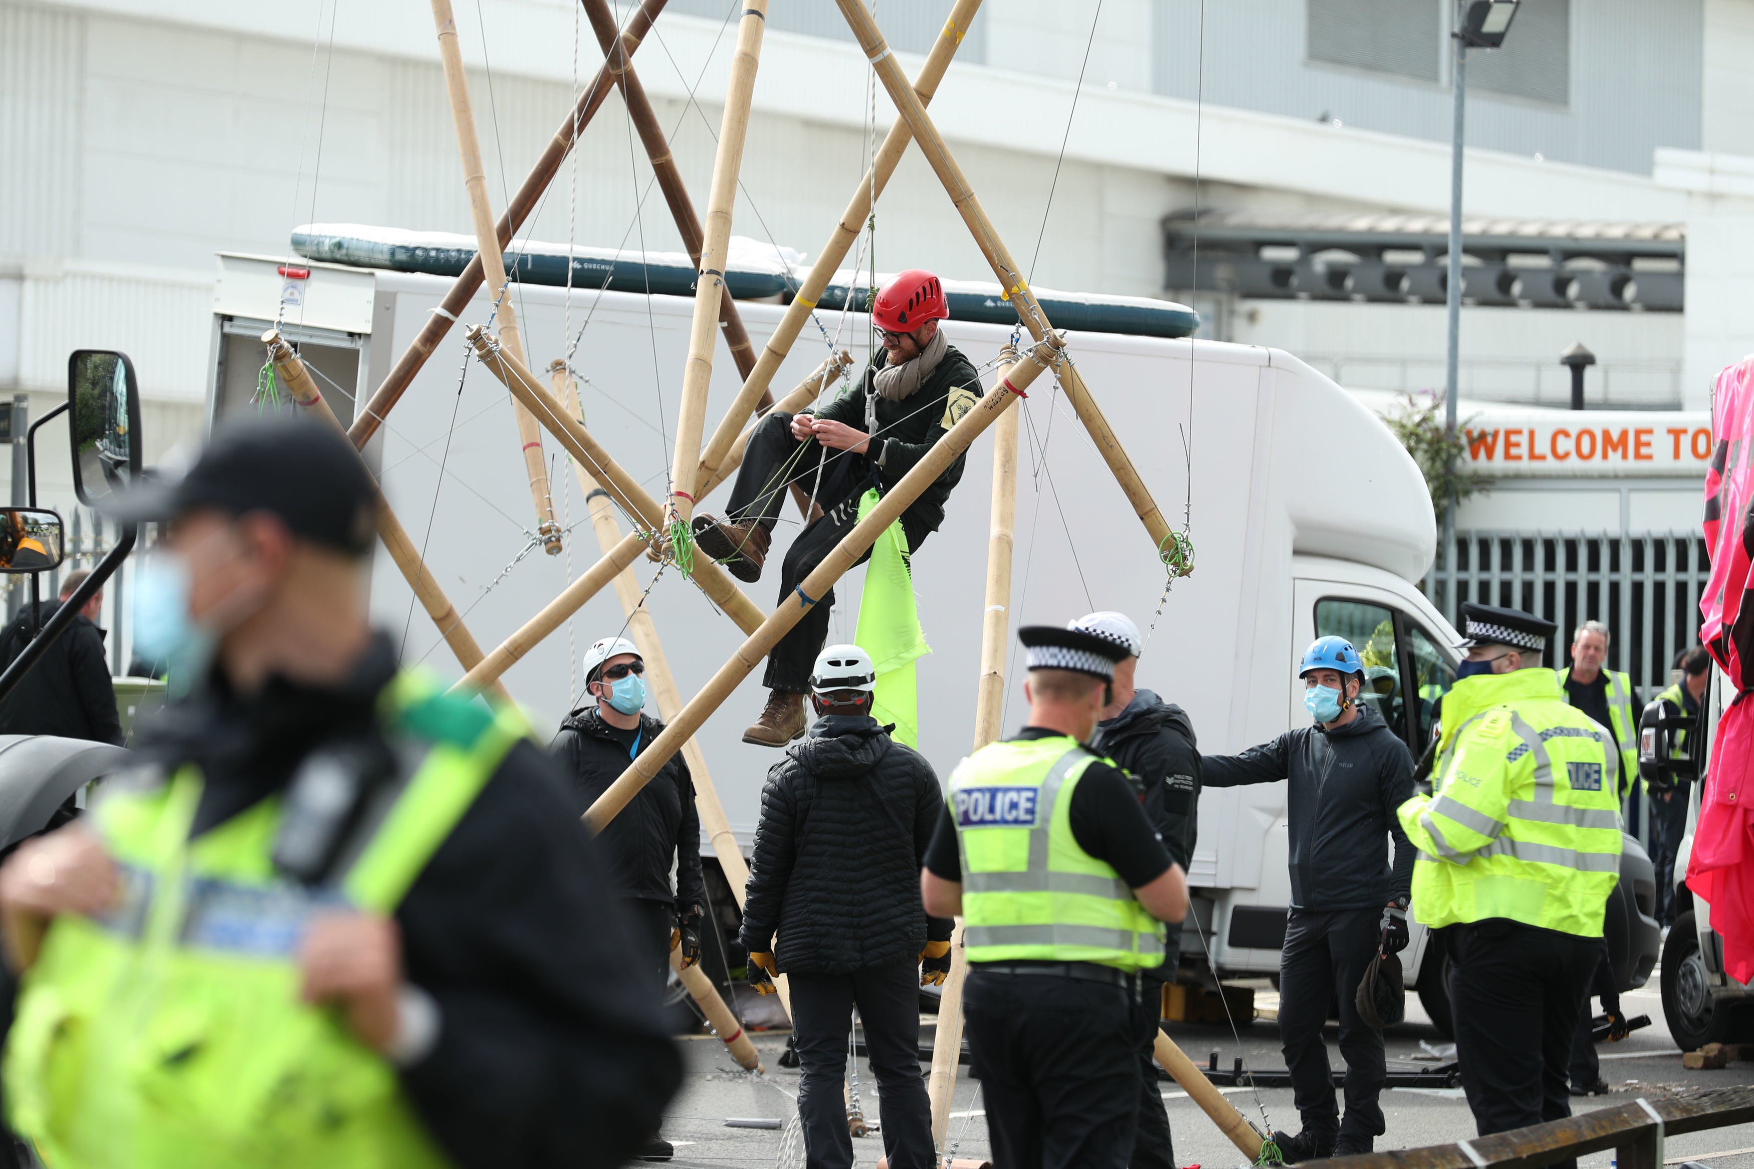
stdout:
<svg viewBox="0 0 1754 1169">
<path fill-rule="evenodd" d="M 986 610 L 980 619 L 980 682 L 975 696 L 975 750 L 1000 736 L 1005 710 L 1005 650 L 1010 647 L 1010 563 L 1017 515 L 1017 429 L 1016 410 L 993 424 L 993 519 L 988 535 Z M 942 1153 L 956 1095 L 956 1066 L 963 1053 L 963 981 L 968 957 L 963 924 L 951 938 L 951 973 L 938 997 L 938 1029 L 931 1039 L 931 1143 Z"/>
</svg>

